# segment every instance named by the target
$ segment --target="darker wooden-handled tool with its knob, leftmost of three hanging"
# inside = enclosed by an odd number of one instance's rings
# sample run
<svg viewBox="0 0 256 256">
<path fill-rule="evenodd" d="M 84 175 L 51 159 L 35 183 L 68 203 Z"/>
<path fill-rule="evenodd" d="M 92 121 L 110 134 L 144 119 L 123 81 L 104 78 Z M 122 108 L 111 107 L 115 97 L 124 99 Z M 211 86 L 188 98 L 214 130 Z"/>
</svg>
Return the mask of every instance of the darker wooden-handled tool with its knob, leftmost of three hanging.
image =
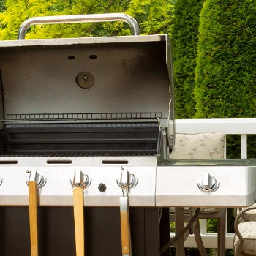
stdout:
<svg viewBox="0 0 256 256">
<path fill-rule="evenodd" d="M 45 185 L 46 180 L 37 170 L 27 171 L 29 176 L 26 178 L 26 184 L 29 186 L 29 227 L 31 256 L 38 256 L 38 230 L 37 230 L 37 189 Z"/>
</svg>

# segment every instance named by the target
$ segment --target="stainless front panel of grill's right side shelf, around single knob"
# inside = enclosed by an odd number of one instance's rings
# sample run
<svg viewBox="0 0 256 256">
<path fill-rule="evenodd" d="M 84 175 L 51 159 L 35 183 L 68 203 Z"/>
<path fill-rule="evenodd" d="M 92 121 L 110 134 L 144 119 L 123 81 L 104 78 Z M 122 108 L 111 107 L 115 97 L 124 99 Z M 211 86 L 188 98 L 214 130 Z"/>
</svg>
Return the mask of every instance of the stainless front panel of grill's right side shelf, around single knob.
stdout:
<svg viewBox="0 0 256 256">
<path fill-rule="evenodd" d="M 202 191 L 198 178 L 210 173 L 220 186 Z M 234 207 L 255 203 L 254 166 L 158 166 L 156 206 Z"/>
</svg>

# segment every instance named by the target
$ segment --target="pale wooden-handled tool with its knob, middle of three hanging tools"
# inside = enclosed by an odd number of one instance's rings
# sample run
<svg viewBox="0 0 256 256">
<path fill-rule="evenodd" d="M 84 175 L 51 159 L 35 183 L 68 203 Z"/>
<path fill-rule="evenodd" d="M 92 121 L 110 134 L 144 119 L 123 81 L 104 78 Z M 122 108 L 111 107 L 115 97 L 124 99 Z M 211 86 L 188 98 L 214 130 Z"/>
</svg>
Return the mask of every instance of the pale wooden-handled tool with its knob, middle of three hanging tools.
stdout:
<svg viewBox="0 0 256 256">
<path fill-rule="evenodd" d="M 70 180 L 73 187 L 74 220 L 75 220 L 75 249 L 77 256 L 84 256 L 84 217 L 83 189 L 91 185 L 89 177 L 78 170 Z"/>
</svg>

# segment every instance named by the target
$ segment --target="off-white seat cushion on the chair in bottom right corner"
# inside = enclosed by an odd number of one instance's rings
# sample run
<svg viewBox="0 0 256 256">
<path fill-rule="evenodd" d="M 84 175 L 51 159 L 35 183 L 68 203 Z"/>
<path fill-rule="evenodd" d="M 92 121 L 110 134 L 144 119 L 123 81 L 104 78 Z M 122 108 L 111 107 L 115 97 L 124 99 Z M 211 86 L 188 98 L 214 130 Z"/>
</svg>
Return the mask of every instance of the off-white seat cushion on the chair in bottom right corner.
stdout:
<svg viewBox="0 0 256 256">
<path fill-rule="evenodd" d="M 238 230 L 244 238 L 242 252 L 256 254 L 256 222 L 241 222 L 238 224 Z M 234 246 L 238 244 L 238 237 L 235 235 Z"/>
</svg>

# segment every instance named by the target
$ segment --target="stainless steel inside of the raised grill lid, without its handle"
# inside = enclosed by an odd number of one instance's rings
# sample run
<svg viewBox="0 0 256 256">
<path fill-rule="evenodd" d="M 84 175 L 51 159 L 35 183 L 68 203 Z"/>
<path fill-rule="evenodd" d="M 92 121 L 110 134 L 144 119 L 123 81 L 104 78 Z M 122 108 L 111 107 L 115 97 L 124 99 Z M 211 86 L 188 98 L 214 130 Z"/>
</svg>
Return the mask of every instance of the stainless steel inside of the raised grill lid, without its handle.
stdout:
<svg viewBox="0 0 256 256">
<path fill-rule="evenodd" d="M 149 116 L 159 118 L 161 127 L 168 126 L 171 133 L 169 48 L 166 35 L 0 42 L 4 120 L 75 122 L 97 115 L 106 120 Z M 90 59 L 91 55 L 97 58 Z M 81 70 L 94 75 L 94 86 L 88 90 L 76 83 Z"/>
</svg>

